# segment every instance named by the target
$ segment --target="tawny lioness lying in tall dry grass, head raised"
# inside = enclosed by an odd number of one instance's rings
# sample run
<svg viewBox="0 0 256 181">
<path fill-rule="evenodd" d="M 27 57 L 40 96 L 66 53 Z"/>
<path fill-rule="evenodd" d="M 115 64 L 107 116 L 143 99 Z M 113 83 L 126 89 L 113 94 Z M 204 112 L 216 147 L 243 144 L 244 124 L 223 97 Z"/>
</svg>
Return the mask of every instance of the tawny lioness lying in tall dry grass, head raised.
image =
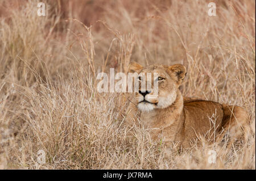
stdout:
<svg viewBox="0 0 256 181">
<path fill-rule="evenodd" d="M 207 135 L 211 141 L 225 133 L 233 138 L 242 136 L 247 123 L 242 107 L 208 100 L 183 100 L 179 90 L 186 75 L 183 65 L 154 64 L 143 68 L 131 63 L 129 70 L 139 74 L 139 90 L 129 105 L 127 117 L 134 121 L 137 115 L 144 126 L 151 129 L 154 140 L 163 138 L 164 142 L 179 142 L 182 148 L 189 148 L 200 136 Z M 140 73 L 144 73 L 144 77 Z M 141 81 L 147 79 L 147 73 L 158 73 L 159 77 L 151 79 L 150 89 L 142 90 Z M 158 82 L 158 94 L 154 94 L 154 81 Z"/>
</svg>

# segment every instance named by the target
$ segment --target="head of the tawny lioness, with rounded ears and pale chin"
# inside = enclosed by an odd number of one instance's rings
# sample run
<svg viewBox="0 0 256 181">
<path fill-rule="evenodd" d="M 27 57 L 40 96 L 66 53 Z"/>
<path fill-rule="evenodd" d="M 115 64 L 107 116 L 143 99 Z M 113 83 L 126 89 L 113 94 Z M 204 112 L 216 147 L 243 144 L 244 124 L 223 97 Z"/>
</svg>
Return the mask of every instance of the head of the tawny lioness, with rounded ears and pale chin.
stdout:
<svg viewBox="0 0 256 181">
<path fill-rule="evenodd" d="M 142 65 L 131 63 L 129 69 L 138 73 L 136 81 L 139 89 L 136 92 L 136 100 L 141 111 L 171 106 L 176 100 L 177 91 L 186 74 L 186 68 L 181 64 L 171 66 L 153 64 L 143 68 Z M 157 76 L 154 73 L 157 73 Z M 158 88 L 154 89 L 154 85 L 158 85 L 156 86 Z"/>
</svg>

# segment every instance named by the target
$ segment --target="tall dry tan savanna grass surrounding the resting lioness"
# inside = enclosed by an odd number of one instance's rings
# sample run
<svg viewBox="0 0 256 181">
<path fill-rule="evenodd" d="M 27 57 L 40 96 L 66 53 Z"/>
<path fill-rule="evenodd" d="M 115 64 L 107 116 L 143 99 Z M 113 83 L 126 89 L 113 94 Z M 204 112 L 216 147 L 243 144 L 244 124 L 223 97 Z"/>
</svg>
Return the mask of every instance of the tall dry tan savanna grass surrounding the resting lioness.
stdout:
<svg viewBox="0 0 256 181">
<path fill-rule="evenodd" d="M 255 169 L 255 1 L 38 2 L 0 0 L 0 169 Z M 184 64 L 183 95 L 243 106 L 246 141 L 177 152 L 122 127 L 96 75 L 131 61 Z"/>
</svg>

